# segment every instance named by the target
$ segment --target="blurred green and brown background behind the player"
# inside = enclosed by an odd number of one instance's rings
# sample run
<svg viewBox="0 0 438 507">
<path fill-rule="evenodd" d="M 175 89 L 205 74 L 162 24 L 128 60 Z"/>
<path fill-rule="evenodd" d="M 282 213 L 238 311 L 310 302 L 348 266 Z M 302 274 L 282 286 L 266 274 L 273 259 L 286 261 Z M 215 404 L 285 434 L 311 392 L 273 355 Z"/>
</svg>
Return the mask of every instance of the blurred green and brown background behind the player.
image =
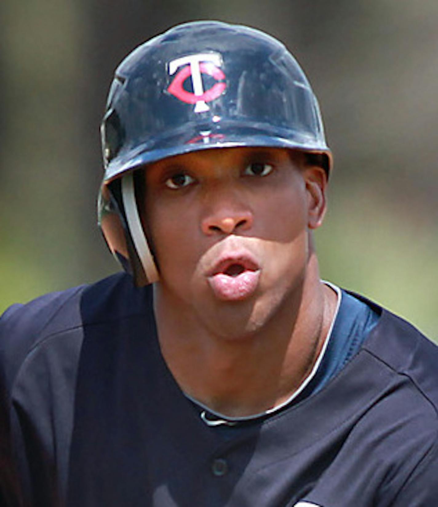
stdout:
<svg viewBox="0 0 438 507">
<path fill-rule="evenodd" d="M 118 269 L 96 227 L 112 74 L 169 26 L 272 33 L 319 97 L 334 152 L 322 276 L 437 339 L 436 0 L 3 0 L 0 311 Z"/>
</svg>

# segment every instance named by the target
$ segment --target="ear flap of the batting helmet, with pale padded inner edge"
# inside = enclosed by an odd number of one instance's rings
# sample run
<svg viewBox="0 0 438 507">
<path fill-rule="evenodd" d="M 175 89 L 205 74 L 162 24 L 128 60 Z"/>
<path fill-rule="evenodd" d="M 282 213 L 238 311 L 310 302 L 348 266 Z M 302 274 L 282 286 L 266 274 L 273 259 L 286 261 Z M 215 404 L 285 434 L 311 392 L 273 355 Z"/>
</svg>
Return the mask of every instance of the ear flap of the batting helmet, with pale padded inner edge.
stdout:
<svg viewBox="0 0 438 507">
<path fill-rule="evenodd" d="M 109 250 L 137 287 L 158 281 L 154 262 L 138 214 L 132 173 L 108 186 L 98 199 L 99 227 Z"/>
</svg>

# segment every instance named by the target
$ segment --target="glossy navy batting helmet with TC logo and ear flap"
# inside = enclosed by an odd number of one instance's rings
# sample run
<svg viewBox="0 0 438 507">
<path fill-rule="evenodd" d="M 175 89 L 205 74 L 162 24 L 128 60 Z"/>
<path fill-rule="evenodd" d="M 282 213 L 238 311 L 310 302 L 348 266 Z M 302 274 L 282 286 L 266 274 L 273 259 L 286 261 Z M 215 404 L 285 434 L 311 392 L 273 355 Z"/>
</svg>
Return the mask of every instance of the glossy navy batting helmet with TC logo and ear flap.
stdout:
<svg viewBox="0 0 438 507">
<path fill-rule="evenodd" d="M 299 149 L 325 143 L 315 95 L 295 58 L 259 30 L 214 21 L 176 26 L 116 69 L 102 126 L 99 225 L 141 286 L 158 280 L 137 210 L 133 171 L 165 157 L 230 147 Z"/>
</svg>

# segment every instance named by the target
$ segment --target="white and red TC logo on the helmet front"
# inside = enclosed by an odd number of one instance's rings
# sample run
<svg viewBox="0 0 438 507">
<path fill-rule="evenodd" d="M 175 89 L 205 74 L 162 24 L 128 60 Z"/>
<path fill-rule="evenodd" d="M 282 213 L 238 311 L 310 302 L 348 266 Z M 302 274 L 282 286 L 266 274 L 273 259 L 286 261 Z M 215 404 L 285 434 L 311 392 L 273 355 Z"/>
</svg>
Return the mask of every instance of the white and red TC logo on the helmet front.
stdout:
<svg viewBox="0 0 438 507">
<path fill-rule="evenodd" d="M 222 57 L 218 53 L 198 53 L 195 55 L 183 56 L 169 62 L 169 74 L 173 76 L 179 67 L 182 67 L 167 91 L 182 102 L 195 104 L 194 112 L 202 113 L 209 111 L 207 102 L 214 100 L 227 87 L 224 82 L 217 82 L 208 90 L 204 90 L 202 74 L 211 76 L 216 81 L 225 79 L 225 74 L 219 68 L 222 65 Z M 184 89 L 184 82 L 188 77 L 192 78 L 193 93 Z"/>
</svg>

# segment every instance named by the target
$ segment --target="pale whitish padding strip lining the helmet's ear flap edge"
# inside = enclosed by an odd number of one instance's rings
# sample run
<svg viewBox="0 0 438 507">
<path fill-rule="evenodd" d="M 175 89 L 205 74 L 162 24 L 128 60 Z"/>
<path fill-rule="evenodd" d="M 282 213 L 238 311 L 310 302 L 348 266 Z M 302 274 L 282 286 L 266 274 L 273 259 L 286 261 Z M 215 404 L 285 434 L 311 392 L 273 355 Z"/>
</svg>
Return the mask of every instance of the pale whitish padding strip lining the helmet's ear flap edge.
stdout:
<svg viewBox="0 0 438 507">
<path fill-rule="evenodd" d="M 150 283 L 154 283 L 159 280 L 160 275 L 158 274 L 148 241 L 144 235 L 140 216 L 138 215 L 137 202 L 134 192 L 134 177 L 132 172 L 126 174 L 122 178 L 122 199 L 129 232 L 134 242 L 135 249 L 137 250 L 141 265 L 144 269 L 144 273 L 146 274 L 148 281 Z"/>
</svg>

